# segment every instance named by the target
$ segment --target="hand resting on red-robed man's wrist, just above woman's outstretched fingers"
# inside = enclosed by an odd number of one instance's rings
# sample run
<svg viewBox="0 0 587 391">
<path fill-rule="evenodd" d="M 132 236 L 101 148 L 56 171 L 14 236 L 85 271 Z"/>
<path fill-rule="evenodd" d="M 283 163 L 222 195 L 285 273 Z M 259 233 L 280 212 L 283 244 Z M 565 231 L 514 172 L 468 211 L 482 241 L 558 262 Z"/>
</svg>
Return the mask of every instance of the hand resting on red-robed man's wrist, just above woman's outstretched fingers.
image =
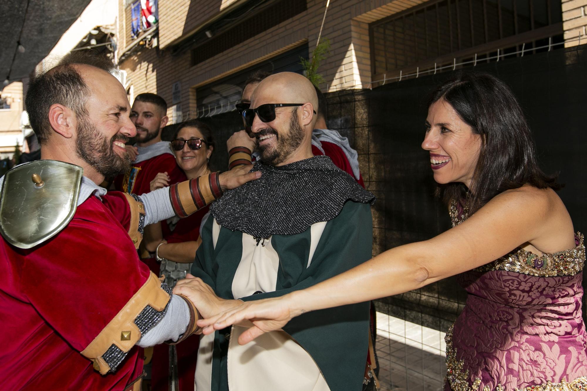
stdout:
<svg viewBox="0 0 587 391">
<path fill-rule="evenodd" d="M 239 300 L 227 300 L 218 297 L 210 288 L 210 285 L 191 274 L 187 274 L 185 279 L 177 282 L 175 288 L 173 288 L 173 293 L 184 295 L 190 299 L 202 318 L 222 314 L 242 304 L 242 301 Z"/>
</svg>

